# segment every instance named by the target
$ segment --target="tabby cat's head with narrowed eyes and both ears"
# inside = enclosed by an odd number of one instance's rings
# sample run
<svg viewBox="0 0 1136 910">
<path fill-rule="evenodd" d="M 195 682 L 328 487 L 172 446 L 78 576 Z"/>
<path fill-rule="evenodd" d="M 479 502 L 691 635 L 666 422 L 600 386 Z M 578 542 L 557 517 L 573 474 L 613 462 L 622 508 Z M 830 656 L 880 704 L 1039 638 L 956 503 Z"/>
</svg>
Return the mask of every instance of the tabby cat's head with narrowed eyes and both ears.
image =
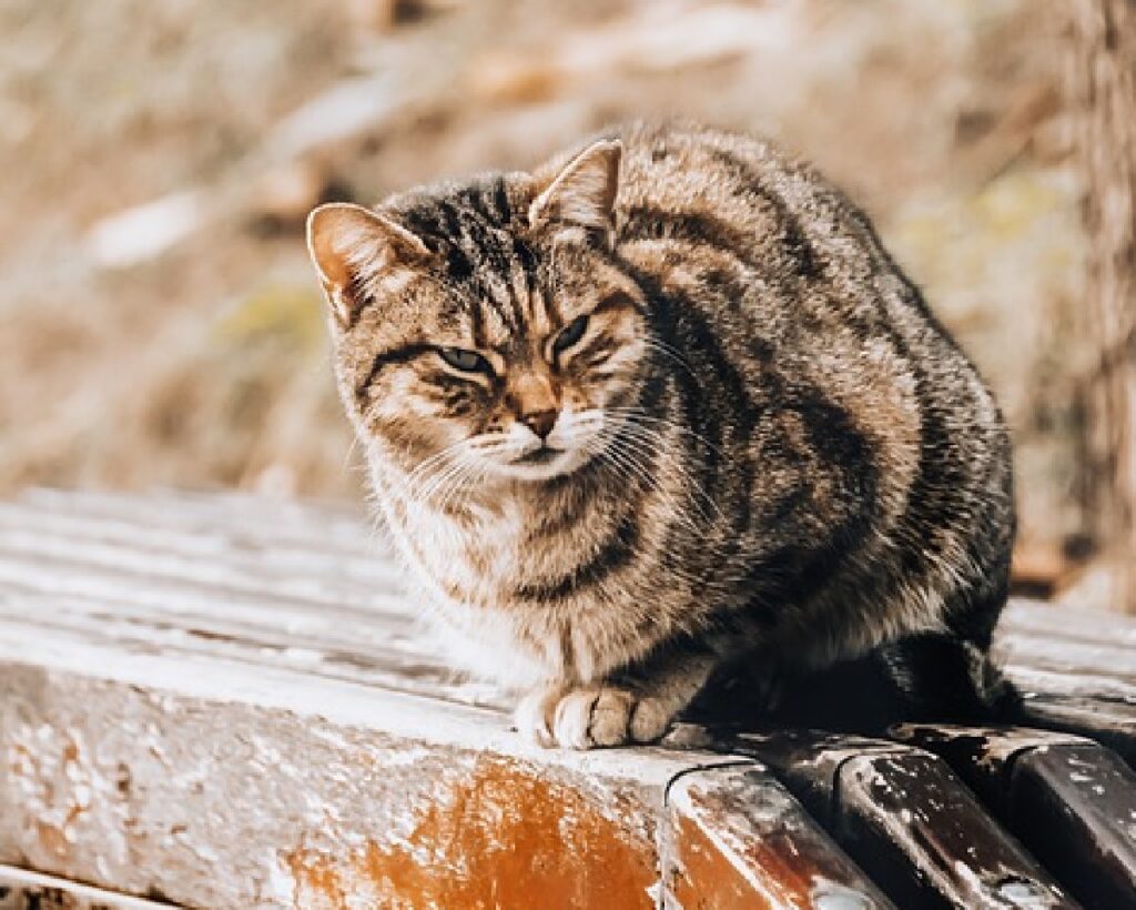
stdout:
<svg viewBox="0 0 1136 910">
<path fill-rule="evenodd" d="M 428 487 L 544 481 L 603 450 L 648 349 L 611 254 L 620 152 L 311 214 L 341 391 L 381 457 Z"/>
</svg>

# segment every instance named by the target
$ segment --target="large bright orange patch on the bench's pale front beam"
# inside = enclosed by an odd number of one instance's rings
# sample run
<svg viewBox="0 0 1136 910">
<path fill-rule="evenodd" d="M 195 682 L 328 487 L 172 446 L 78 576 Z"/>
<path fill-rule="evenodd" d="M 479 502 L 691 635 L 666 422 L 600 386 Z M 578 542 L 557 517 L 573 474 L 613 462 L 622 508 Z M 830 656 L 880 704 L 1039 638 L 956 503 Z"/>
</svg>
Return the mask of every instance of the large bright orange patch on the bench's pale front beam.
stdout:
<svg viewBox="0 0 1136 910">
<path fill-rule="evenodd" d="M 289 860 L 295 905 L 635 910 L 654 902 L 654 844 L 578 791 L 524 766 L 479 760 L 416 818 L 406 841 L 370 841 L 345 860 L 301 849 Z"/>
</svg>

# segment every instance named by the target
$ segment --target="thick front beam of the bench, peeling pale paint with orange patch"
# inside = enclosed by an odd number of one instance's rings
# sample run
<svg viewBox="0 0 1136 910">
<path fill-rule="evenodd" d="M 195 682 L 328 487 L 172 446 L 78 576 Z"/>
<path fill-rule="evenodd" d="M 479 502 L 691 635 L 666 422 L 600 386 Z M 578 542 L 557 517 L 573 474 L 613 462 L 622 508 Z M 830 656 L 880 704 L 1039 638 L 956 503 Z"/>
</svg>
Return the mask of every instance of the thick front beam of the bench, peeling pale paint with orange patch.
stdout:
<svg viewBox="0 0 1136 910">
<path fill-rule="evenodd" d="M 762 780 L 745 758 L 542 750 L 498 711 L 15 620 L 0 754 L 0 862 L 193 907 L 654 907 L 671 783 L 738 761 Z"/>
</svg>

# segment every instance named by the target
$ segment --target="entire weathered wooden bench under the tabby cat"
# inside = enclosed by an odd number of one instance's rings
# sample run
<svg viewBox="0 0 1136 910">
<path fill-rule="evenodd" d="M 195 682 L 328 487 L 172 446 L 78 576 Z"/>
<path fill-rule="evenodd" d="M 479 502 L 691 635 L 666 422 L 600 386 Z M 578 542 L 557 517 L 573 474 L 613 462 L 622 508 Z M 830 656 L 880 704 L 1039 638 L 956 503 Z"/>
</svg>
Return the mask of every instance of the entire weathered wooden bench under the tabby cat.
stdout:
<svg viewBox="0 0 1136 910">
<path fill-rule="evenodd" d="M 545 751 L 361 514 L 31 491 L 0 908 L 1136 907 L 1136 623 L 1013 603 L 999 646 L 1021 727 Z"/>
</svg>

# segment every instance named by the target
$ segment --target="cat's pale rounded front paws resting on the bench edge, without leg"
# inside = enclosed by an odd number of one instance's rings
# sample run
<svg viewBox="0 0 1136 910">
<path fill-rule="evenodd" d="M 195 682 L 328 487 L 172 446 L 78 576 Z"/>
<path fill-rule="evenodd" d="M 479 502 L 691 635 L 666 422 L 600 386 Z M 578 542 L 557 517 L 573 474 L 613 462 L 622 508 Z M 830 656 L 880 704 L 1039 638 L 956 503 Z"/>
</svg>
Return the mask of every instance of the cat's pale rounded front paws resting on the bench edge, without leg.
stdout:
<svg viewBox="0 0 1136 910">
<path fill-rule="evenodd" d="M 611 685 L 549 686 L 517 707 L 517 729 L 543 746 L 594 749 L 651 743 L 670 726 L 673 711 L 660 701 Z"/>
</svg>

